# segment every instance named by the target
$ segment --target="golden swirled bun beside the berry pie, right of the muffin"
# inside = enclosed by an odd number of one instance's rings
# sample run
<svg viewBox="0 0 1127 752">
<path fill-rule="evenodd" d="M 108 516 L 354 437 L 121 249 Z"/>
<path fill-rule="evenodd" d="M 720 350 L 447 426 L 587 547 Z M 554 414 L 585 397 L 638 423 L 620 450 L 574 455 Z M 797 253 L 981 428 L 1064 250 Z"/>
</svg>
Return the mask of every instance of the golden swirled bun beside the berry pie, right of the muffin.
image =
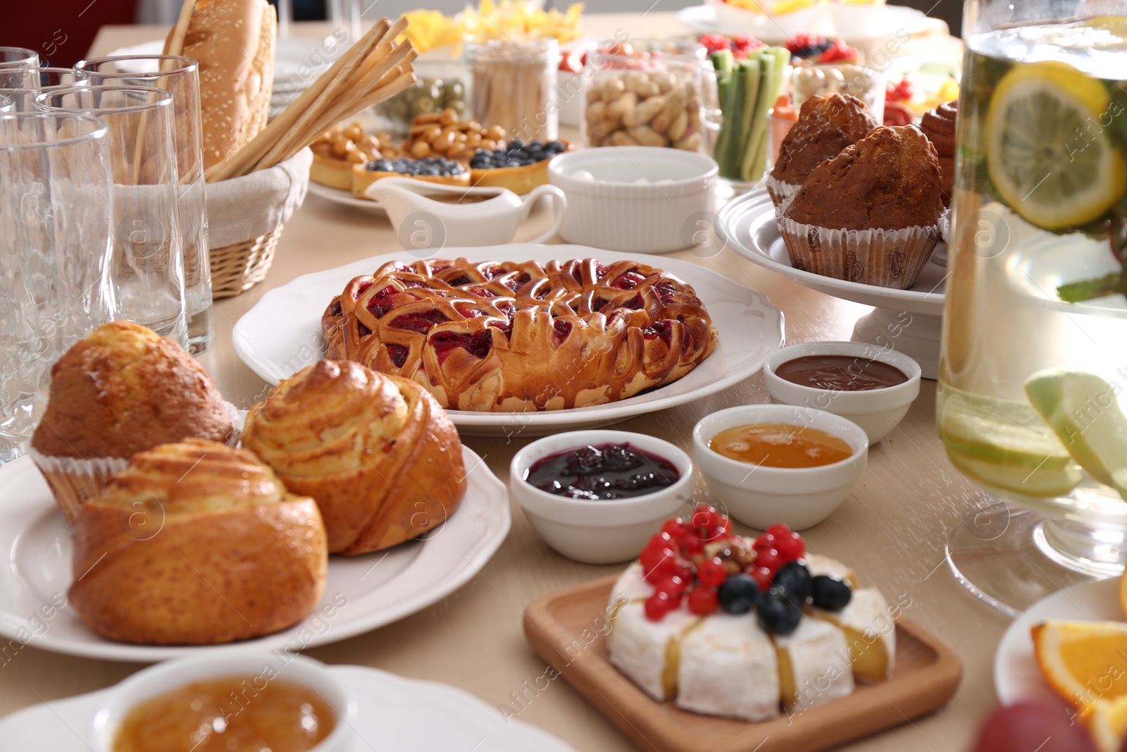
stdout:
<svg viewBox="0 0 1127 752">
<path fill-rule="evenodd" d="M 247 416 L 243 446 L 317 499 L 329 551 L 375 551 L 453 514 L 465 494 L 458 431 L 426 389 L 349 361 L 320 361 Z"/>
</svg>

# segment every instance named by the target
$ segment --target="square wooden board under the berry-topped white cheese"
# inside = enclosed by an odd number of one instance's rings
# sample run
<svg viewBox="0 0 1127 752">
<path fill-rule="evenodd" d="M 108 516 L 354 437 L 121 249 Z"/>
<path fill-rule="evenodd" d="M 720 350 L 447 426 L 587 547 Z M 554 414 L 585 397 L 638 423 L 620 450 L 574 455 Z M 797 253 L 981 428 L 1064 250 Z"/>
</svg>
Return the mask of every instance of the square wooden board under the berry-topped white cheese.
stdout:
<svg viewBox="0 0 1127 752">
<path fill-rule="evenodd" d="M 747 723 L 657 702 L 611 665 L 606 603 L 615 576 L 547 595 L 524 612 L 532 649 L 642 750 L 657 752 L 817 752 L 891 728 L 943 706 L 962 663 L 939 639 L 896 620 L 896 669 L 879 684 L 774 720 Z"/>
</svg>

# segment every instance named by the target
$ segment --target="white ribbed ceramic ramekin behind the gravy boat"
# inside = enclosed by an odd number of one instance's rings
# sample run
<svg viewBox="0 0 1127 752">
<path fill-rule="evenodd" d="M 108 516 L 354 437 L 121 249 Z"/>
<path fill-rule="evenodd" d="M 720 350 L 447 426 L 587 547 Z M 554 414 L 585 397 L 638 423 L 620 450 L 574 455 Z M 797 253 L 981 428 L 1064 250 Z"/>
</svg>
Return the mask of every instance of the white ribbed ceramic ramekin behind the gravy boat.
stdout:
<svg viewBox="0 0 1127 752">
<path fill-rule="evenodd" d="M 595 179 L 575 177 L 577 170 Z M 689 248 L 712 220 L 718 171 L 711 157 L 662 147 L 560 154 L 548 165 L 548 179 L 567 196 L 560 237 L 623 253 Z"/>
</svg>

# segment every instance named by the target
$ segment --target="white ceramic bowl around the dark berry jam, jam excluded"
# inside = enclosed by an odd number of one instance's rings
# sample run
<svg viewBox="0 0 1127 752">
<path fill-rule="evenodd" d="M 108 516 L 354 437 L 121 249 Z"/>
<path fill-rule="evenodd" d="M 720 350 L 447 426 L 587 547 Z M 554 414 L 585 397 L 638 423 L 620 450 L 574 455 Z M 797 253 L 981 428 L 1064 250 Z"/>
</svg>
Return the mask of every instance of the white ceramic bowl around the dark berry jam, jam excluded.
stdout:
<svg viewBox="0 0 1127 752">
<path fill-rule="evenodd" d="M 540 490 L 524 479 L 536 461 L 580 446 L 630 443 L 668 460 L 681 478 L 666 488 L 615 501 L 592 502 Z M 692 497 L 693 463 L 667 441 L 624 431 L 569 431 L 521 449 L 508 469 L 508 487 L 533 529 L 557 551 L 587 564 L 628 561 Z"/>
</svg>

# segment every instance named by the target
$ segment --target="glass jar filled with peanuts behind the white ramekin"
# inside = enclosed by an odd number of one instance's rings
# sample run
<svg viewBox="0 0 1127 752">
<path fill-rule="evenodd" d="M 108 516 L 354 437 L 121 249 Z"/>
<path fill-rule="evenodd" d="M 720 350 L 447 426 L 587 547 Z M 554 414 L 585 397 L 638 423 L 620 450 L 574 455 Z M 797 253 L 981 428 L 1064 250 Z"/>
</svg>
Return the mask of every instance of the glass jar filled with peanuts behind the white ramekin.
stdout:
<svg viewBox="0 0 1127 752">
<path fill-rule="evenodd" d="M 711 153 L 719 130 L 706 48 L 680 39 L 595 44 L 585 91 L 588 147 L 671 147 Z"/>
</svg>

